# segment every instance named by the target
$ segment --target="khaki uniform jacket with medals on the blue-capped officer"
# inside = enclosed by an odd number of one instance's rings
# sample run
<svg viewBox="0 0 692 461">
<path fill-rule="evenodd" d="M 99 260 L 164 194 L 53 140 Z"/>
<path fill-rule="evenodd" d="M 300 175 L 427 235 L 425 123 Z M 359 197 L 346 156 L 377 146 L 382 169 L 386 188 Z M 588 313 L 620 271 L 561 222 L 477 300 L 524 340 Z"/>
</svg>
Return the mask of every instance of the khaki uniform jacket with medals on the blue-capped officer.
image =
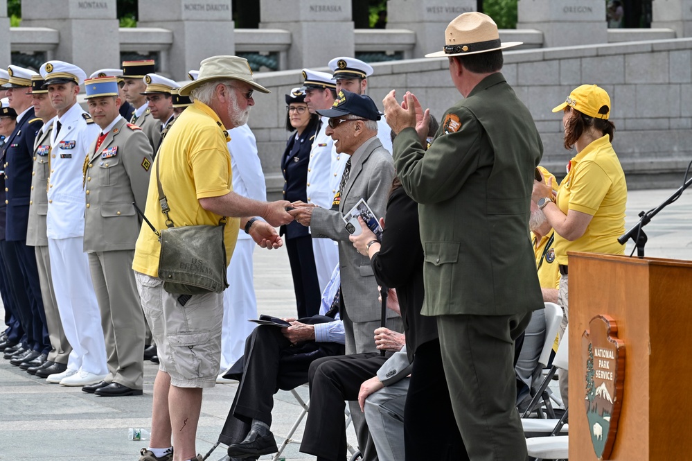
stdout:
<svg viewBox="0 0 692 461">
<path fill-rule="evenodd" d="M 107 133 L 98 150 L 91 143 L 86 165 L 84 251 L 134 250 L 144 211 L 152 149 L 142 130 L 125 119 Z"/>
</svg>

